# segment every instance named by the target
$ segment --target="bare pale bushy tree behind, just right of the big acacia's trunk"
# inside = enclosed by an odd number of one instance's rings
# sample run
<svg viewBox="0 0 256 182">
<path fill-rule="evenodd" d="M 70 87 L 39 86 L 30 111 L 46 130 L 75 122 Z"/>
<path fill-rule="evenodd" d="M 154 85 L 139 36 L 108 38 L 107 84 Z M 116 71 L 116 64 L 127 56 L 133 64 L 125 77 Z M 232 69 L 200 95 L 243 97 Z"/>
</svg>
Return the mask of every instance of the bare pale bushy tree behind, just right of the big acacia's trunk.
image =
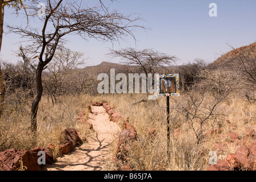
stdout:
<svg viewBox="0 0 256 182">
<path fill-rule="evenodd" d="M 53 60 L 47 65 L 43 79 L 43 87 L 56 102 L 57 96 L 63 94 L 81 94 L 81 92 L 93 85 L 91 76 L 81 67 L 84 64 L 83 53 L 73 52 L 67 48 L 59 49 Z"/>
</svg>

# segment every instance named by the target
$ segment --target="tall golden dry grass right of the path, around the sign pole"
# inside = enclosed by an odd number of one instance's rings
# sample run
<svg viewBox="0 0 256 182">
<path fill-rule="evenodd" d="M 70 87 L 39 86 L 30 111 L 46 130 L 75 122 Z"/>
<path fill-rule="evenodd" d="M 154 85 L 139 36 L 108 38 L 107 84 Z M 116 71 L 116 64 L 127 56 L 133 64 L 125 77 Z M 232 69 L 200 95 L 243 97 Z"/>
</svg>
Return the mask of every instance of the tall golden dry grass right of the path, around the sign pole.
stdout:
<svg viewBox="0 0 256 182">
<path fill-rule="evenodd" d="M 183 100 L 184 97 L 186 96 L 181 96 L 179 99 Z M 129 121 L 137 130 L 138 139 L 133 144 L 127 162 L 134 170 L 205 170 L 209 166 L 210 151 L 216 151 L 214 143 L 223 143 L 226 147 L 225 152 L 218 154 L 218 159 L 234 153 L 241 146 L 241 143 L 238 143 L 241 140 L 229 143 L 222 137 L 222 133 L 237 133 L 239 139 L 242 139 L 245 131 L 256 129 L 256 105 L 249 104 L 241 94 L 231 94 L 218 105 L 215 111 L 215 114 L 218 113 L 218 115 L 203 124 L 203 134 L 210 129 L 219 129 L 221 134 L 205 137 L 200 143 L 197 143 L 195 132 L 186 117 L 171 110 L 170 155 L 168 155 L 166 98 L 161 97 L 158 100 L 141 102 L 137 105 L 132 104 L 142 98 L 147 98 L 147 96 L 115 94 L 102 96 L 102 98 L 110 102 L 111 106 L 114 106 L 122 116 L 129 117 Z M 175 106 L 174 103 L 170 102 L 170 107 L 173 106 Z M 195 130 L 199 127 L 197 123 L 193 126 Z M 148 134 L 151 129 L 157 130 L 154 139 L 151 139 Z M 253 141 L 249 140 L 248 144 Z M 113 147 L 114 152 L 116 146 Z"/>
</svg>

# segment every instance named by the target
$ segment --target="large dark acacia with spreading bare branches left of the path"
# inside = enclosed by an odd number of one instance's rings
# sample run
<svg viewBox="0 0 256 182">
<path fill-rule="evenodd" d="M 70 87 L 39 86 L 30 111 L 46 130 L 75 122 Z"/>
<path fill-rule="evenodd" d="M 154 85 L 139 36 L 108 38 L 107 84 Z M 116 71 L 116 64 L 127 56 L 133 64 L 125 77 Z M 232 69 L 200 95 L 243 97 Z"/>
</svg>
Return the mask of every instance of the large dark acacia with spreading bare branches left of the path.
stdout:
<svg viewBox="0 0 256 182">
<path fill-rule="evenodd" d="M 30 5 L 31 16 L 38 15 L 37 6 Z M 67 34 L 77 34 L 82 39 L 94 38 L 103 42 L 114 42 L 124 36 L 134 38 L 133 29 L 142 27 L 134 24 L 140 20 L 133 15 L 123 15 L 118 11 L 110 12 L 101 1 L 94 7 L 87 7 L 83 1 L 48 0 L 45 7 L 45 18 L 42 18 L 41 28 L 27 26 L 9 27 L 10 32 L 15 32 L 27 38 L 32 44 L 27 46 L 31 54 L 38 55 L 38 65 L 35 71 L 37 96 L 31 106 L 31 132 L 37 131 L 38 104 L 43 93 L 42 71 L 54 57 L 58 46 L 64 42 Z M 143 27 L 142 27 L 143 28 Z M 33 57 L 33 56 L 31 56 Z"/>
</svg>

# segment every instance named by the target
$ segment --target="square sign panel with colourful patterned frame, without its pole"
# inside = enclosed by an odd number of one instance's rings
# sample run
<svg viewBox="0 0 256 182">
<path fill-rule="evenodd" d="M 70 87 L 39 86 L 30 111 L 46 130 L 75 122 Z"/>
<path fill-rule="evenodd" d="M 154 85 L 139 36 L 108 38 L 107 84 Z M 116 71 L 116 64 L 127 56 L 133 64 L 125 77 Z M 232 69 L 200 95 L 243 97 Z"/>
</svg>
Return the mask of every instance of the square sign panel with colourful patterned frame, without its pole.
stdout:
<svg viewBox="0 0 256 182">
<path fill-rule="evenodd" d="M 179 75 L 159 75 L 157 87 L 160 96 L 179 96 Z"/>
</svg>

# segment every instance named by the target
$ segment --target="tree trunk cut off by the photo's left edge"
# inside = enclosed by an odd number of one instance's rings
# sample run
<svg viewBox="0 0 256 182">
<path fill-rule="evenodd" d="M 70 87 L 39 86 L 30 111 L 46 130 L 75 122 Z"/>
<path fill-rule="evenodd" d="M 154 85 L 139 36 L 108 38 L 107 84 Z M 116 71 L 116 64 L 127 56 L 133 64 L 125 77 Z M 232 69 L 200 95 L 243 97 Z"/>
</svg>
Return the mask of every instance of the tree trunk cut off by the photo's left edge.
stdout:
<svg viewBox="0 0 256 182">
<path fill-rule="evenodd" d="M 3 38 L 3 15 L 4 15 L 4 5 L 2 1 L 0 2 L 0 53 L 2 47 L 2 38 Z M 5 101 L 5 85 L 3 84 L 3 75 L 2 68 L 0 64 L 0 117 L 3 112 L 3 102 Z"/>
</svg>

